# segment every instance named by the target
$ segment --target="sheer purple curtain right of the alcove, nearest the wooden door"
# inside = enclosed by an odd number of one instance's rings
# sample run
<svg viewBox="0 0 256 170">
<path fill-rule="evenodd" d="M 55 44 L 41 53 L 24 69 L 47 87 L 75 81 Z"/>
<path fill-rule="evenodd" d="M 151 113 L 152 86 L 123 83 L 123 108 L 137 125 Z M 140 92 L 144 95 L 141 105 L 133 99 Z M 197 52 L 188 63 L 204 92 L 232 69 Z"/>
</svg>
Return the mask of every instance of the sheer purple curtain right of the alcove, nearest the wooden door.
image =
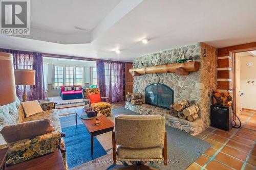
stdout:
<svg viewBox="0 0 256 170">
<path fill-rule="evenodd" d="M 100 94 L 110 102 L 123 101 L 123 62 L 97 61 L 97 80 Z"/>
</svg>

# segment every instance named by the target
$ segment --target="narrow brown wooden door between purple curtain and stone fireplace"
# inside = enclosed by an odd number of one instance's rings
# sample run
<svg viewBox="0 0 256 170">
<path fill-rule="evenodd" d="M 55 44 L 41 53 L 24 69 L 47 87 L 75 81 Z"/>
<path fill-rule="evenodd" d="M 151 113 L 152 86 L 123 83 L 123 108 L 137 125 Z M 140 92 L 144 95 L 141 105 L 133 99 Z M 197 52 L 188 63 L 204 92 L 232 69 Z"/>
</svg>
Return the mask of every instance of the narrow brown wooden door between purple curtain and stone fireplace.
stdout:
<svg viewBox="0 0 256 170">
<path fill-rule="evenodd" d="M 132 63 L 125 63 L 125 74 L 124 74 L 124 100 L 126 101 L 127 92 L 133 93 L 133 76 L 130 74 L 129 69 L 133 68 Z"/>
</svg>

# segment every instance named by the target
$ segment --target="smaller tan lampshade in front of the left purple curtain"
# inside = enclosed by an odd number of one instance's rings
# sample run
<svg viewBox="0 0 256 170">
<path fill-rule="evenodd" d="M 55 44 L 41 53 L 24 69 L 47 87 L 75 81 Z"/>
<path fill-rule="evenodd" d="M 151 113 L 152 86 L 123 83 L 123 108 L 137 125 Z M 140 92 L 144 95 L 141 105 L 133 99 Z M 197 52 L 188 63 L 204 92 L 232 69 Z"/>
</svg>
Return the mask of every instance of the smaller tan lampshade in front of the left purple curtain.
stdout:
<svg viewBox="0 0 256 170">
<path fill-rule="evenodd" d="M 15 69 L 16 85 L 35 85 L 35 70 L 32 69 Z"/>
</svg>

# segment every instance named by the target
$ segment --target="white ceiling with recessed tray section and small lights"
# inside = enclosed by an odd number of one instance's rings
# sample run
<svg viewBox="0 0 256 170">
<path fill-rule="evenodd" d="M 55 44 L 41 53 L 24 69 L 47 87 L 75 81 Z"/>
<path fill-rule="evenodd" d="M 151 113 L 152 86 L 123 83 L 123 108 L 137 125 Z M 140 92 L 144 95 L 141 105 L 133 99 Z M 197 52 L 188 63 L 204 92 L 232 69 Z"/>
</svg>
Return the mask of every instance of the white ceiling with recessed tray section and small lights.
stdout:
<svg viewBox="0 0 256 170">
<path fill-rule="evenodd" d="M 30 3 L 30 36 L 0 36 L 0 47 L 132 61 L 134 57 L 195 42 L 219 48 L 256 41 L 255 0 Z M 150 41 L 143 44 L 142 38 Z M 117 49 L 120 54 L 114 52 Z"/>
</svg>

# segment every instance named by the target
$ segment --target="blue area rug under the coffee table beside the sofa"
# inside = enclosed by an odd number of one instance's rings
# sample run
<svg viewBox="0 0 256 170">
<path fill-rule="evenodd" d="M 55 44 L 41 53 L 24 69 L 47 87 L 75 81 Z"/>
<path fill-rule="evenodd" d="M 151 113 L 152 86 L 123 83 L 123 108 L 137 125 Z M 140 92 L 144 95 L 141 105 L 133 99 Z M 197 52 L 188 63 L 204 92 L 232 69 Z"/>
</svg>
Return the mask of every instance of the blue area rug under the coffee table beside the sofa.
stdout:
<svg viewBox="0 0 256 170">
<path fill-rule="evenodd" d="M 83 124 L 67 127 L 66 123 L 75 116 L 60 117 L 62 132 L 66 133 L 65 146 L 67 150 L 67 163 L 69 168 L 78 166 L 87 161 L 106 155 L 99 141 L 94 137 L 93 158 L 91 157 L 91 135 Z M 79 118 L 78 118 L 79 120 Z M 78 121 L 78 123 L 81 123 Z"/>
</svg>

